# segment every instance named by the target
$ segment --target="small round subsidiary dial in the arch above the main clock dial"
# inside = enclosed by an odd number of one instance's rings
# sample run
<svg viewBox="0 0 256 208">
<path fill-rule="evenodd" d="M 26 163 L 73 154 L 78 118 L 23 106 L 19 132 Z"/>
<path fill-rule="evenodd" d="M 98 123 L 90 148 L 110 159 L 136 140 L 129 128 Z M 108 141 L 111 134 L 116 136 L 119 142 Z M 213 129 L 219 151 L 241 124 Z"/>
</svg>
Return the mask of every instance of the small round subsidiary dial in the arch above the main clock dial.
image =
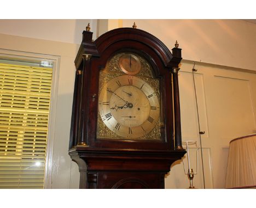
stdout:
<svg viewBox="0 0 256 208">
<path fill-rule="evenodd" d="M 127 75 L 136 75 L 141 71 L 141 62 L 137 56 L 131 53 L 126 53 L 120 57 L 119 66 Z"/>
</svg>

